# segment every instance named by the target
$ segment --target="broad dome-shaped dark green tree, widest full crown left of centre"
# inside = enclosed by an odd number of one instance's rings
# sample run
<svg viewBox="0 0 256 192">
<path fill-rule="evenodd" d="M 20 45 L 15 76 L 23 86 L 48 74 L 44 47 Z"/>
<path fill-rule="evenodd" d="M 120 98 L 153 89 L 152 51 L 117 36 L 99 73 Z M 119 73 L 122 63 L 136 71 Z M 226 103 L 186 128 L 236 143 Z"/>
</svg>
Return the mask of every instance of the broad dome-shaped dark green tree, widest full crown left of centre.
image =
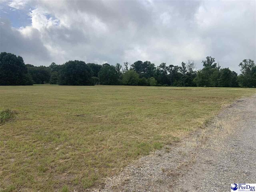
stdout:
<svg viewBox="0 0 256 192">
<path fill-rule="evenodd" d="M 60 85 L 91 85 L 92 71 L 83 61 L 68 61 L 59 72 Z"/>
</svg>

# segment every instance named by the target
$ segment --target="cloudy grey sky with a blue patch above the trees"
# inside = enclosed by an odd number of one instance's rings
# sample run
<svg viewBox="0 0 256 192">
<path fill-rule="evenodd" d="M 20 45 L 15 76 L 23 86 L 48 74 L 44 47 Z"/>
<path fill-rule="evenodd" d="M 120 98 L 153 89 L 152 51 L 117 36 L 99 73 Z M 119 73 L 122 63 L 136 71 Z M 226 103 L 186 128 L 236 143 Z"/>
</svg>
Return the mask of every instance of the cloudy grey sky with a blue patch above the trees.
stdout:
<svg viewBox="0 0 256 192">
<path fill-rule="evenodd" d="M 212 56 L 239 73 L 256 60 L 255 0 L 0 0 L 0 52 L 25 64 L 156 66 Z"/>
</svg>

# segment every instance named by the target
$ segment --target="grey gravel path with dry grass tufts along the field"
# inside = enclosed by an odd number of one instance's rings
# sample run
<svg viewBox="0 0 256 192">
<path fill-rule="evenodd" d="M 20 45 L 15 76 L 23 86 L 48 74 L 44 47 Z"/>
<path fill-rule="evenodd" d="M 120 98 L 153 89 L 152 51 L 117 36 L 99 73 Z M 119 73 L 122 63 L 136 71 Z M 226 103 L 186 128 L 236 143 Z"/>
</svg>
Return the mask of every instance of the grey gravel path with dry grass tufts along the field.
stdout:
<svg viewBox="0 0 256 192">
<path fill-rule="evenodd" d="M 230 191 L 256 182 L 256 96 L 240 99 L 182 142 L 106 180 L 104 192 Z"/>
</svg>

